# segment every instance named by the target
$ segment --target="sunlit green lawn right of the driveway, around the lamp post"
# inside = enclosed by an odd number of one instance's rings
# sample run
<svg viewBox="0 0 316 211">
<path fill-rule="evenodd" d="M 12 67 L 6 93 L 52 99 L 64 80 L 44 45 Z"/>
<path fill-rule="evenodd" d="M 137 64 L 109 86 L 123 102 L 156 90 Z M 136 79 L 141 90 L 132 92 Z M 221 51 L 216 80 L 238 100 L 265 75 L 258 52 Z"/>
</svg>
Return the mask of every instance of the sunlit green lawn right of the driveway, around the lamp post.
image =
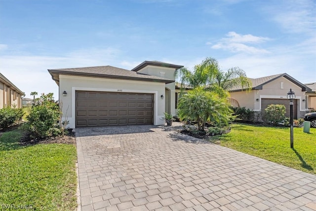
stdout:
<svg viewBox="0 0 316 211">
<path fill-rule="evenodd" d="M 294 128 L 293 133 L 293 149 L 289 128 L 233 124 L 230 133 L 210 141 L 316 175 L 316 128 L 309 134 Z"/>
</svg>

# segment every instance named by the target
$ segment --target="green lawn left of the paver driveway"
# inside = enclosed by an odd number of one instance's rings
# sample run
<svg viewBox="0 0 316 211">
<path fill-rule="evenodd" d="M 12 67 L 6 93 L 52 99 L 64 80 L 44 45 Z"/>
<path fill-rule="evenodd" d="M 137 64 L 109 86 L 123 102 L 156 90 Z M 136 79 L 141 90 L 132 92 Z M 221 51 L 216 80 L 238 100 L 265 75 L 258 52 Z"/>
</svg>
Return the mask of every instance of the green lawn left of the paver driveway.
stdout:
<svg viewBox="0 0 316 211">
<path fill-rule="evenodd" d="M 0 137 L 1 208 L 13 205 L 39 211 L 76 210 L 76 146 L 21 146 L 21 133 L 14 130 Z"/>
</svg>

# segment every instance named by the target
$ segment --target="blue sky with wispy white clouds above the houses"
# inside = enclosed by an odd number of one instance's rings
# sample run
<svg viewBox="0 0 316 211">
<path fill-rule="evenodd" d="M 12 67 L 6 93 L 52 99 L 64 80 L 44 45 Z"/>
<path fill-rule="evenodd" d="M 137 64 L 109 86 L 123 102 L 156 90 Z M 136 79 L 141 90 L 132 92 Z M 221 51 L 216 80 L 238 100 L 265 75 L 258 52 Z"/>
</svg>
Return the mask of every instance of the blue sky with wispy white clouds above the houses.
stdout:
<svg viewBox="0 0 316 211">
<path fill-rule="evenodd" d="M 26 97 L 58 99 L 47 69 L 206 57 L 316 82 L 316 0 L 0 0 L 0 72 Z"/>
</svg>

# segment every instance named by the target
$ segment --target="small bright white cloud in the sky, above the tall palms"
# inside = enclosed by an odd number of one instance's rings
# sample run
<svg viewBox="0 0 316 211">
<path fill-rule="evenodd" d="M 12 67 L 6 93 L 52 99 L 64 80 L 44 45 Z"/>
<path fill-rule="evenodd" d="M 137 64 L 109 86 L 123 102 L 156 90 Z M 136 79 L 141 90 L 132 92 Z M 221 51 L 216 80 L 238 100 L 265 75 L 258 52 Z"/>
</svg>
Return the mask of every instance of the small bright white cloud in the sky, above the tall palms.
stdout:
<svg viewBox="0 0 316 211">
<path fill-rule="evenodd" d="M 257 44 L 270 40 L 268 37 L 254 36 L 254 35 L 239 35 L 236 32 L 229 32 L 227 37 L 220 39 L 220 41 L 211 48 L 223 49 L 231 52 L 244 52 L 248 54 L 262 54 L 269 53 L 268 50 L 246 45 L 245 43 Z"/>
</svg>

